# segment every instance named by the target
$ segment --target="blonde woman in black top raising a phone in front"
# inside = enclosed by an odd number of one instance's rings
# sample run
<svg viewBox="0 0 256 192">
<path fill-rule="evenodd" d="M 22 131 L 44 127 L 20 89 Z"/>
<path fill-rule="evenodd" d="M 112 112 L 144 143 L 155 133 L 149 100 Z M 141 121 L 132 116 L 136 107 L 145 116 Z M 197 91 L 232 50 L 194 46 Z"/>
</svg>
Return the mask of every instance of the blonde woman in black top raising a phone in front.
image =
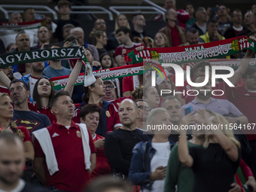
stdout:
<svg viewBox="0 0 256 192">
<path fill-rule="evenodd" d="M 234 175 L 241 160 L 240 144 L 234 138 L 229 123 L 219 114 L 200 109 L 187 115 L 194 126 L 205 127 L 200 134 L 206 135 L 205 148 L 187 147 L 186 130 L 181 130 L 178 144 L 178 158 L 181 163 L 193 169 L 197 192 L 227 192 L 232 187 Z M 186 124 L 186 123 L 184 123 Z M 189 125 L 190 123 L 187 123 Z"/>
</svg>

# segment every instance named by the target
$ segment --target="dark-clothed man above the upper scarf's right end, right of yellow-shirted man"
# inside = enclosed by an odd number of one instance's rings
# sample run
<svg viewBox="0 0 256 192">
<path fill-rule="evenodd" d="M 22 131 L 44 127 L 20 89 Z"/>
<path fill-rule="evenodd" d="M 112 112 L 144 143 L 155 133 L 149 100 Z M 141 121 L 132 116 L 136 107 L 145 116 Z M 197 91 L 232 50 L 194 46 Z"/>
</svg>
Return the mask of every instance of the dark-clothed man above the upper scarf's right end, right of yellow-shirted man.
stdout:
<svg viewBox="0 0 256 192">
<path fill-rule="evenodd" d="M 224 32 L 225 38 L 235 38 L 244 30 L 242 26 L 242 12 L 239 9 L 235 9 L 231 13 L 231 20 L 233 25 Z"/>
</svg>

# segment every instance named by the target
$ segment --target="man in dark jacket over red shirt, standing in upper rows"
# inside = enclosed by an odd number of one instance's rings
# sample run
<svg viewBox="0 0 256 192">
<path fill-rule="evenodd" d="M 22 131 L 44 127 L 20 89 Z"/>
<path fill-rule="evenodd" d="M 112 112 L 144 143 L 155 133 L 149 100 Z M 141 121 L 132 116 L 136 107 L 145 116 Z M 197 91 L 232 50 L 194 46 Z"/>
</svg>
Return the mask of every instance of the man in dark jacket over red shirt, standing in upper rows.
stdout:
<svg viewBox="0 0 256 192">
<path fill-rule="evenodd" d="M 172 0 L 174 1 L 174 0 Z M 167 26 L 160 29 L 158 32 L 163 32 L 169 41 L 170 47 L 177 47 L 180 44 L 186 43 L 185 29 L 181 26 L 176 26 L 175 21 L 177 15 L 174 9 L 170 8 L 166 12 Z M 177 38 L 178 37 L 178 38 Z"/>
</svg>

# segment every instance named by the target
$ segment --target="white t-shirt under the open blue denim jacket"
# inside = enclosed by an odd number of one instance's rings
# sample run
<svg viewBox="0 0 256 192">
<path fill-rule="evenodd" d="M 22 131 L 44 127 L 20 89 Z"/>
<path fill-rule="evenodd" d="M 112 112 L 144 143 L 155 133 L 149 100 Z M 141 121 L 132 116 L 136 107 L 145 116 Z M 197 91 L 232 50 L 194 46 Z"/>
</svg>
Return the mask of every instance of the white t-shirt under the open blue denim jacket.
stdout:
<svg viewBox="0 0 256 192">
<path fill-rule="evenodd" d="M 151 172 L 154 172 L 158 166 L 167 166 L 169 155 L 171 154 L 171 144 L 169 142 L 152 142 L 152 147 L 156 150 L 151 160 Z M 151 192 L 163 192 L 164 179 L 154 181 Z"/>
</svg>

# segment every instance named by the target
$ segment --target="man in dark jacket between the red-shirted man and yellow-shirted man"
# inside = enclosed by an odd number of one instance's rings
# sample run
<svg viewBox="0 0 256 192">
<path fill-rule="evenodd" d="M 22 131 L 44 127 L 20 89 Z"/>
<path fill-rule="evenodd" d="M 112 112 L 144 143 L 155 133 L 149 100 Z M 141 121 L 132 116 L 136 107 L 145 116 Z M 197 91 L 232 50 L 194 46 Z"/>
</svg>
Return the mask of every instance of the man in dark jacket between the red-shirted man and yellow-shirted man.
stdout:
<svg viewBox="0 0 256 192">
<path fill-rule="evenodd" d="M 195 12 L 195 16 L 197 18 L 197 21 L 191 25 L 191 27 L 194 27 L 199 32 L 199 35 L 205 35 L 206 30 L 206 22 L 207 22 L 207 12 L 206 9 L 203 7 L 197 8 Z"/>
</svg>

